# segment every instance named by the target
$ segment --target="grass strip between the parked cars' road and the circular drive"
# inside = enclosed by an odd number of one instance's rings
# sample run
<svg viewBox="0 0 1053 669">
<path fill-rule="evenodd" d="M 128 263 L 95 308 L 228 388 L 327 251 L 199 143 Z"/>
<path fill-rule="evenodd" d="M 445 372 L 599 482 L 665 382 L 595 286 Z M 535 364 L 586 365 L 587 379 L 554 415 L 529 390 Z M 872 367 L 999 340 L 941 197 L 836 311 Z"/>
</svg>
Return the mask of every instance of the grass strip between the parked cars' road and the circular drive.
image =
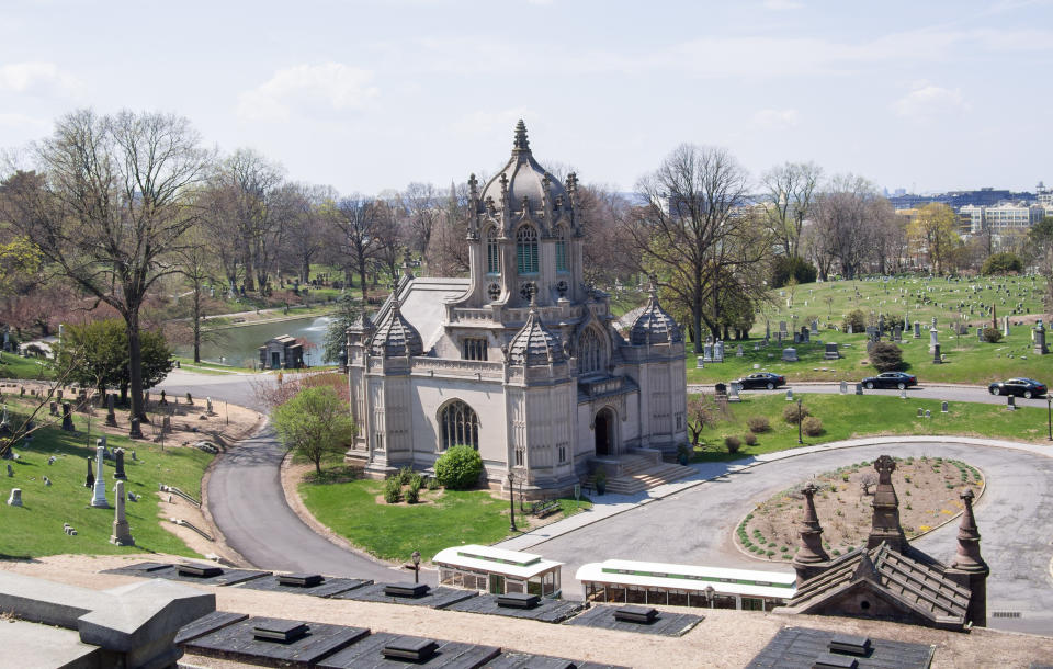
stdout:
<svg viewBox="0 0 1053 669">
<path fill-rule="evenodd" d="M 907 399 L 876 395 L 797 395 L 812 416 L 823 420 L 824 431 L 818 436 L 804 435 L 804 444 L 812 446 L 858 436 L 894 434 L 958 434 L 992 436 L 1015 441 L 1050 443 L 1046 439 L 1046 412 L 1040 408 L 1022 407 L 1007 411 L 1003 405 L 950 402 L 948 413 L 940 412 L 939 400 Z M 783 395 L 743 395 L 743 401 L 728 405 L 728 416 L 702 431 L 704 446 L 695 451 L 695 462 L 732 461 L 750 455 L 795 449 L 797 427 L 782 419 L 788 406 Z M 918 408 L 931 411 L 931 418 L 918 418 Z M 757 444 L 745 443 L 736 454 L 724 446 L 724 436 L 743 438 L 749 430 L 746 421 L 765 416 L 771 431 L 757 434 Z M 1051 445 L 1053 447 L 1053 445 Z"/>
</svg>

